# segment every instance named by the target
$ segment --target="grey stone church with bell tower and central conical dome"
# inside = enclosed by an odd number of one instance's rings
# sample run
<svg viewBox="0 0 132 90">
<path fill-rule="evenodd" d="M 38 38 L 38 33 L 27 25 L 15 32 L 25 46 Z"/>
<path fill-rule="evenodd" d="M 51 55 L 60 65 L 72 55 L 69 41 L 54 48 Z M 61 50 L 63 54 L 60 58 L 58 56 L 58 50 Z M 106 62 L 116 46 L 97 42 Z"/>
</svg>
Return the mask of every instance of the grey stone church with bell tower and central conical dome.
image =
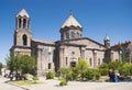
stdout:
<svg viewBox="0 0 132 90">
<path fill-rule="evenodd" d="M 37 75 L 56 71 L 61 67 L 75 67 L 79 59 L 86 59 L 91 68 L 99 67 L 105 61 L 121 59 L 121 53 L 111 49 L 110 38 L 105 37 L 100 44 L 82 36 L 82 26 L 73 14 L 59 29 L 59 41 L 36 40 L 32 36 L 31 19 L 24 9 L 15 16 L 13 46 L 14 55 L 35 56 Z"/>
</svg>

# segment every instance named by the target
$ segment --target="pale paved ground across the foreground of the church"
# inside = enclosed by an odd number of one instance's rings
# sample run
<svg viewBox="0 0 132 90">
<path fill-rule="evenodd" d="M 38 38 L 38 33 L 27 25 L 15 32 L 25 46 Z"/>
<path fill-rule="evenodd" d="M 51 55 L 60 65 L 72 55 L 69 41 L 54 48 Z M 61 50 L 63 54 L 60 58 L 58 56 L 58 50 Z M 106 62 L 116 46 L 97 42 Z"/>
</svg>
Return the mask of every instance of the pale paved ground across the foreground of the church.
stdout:
<svg viewBox="0 0 132 90">
<path fill-rule="evenodd" d="M 79 82 L 68 81 L 68 86 L 58 87 L 58 80 L 45 80 L 44 83 L 22 86 L 28 90 L 132 90 L 132 82 Z M 9 83 L 4 83 L 6 79 L 0 78 L 0 90 L 25 90 Z"/>
</svg>

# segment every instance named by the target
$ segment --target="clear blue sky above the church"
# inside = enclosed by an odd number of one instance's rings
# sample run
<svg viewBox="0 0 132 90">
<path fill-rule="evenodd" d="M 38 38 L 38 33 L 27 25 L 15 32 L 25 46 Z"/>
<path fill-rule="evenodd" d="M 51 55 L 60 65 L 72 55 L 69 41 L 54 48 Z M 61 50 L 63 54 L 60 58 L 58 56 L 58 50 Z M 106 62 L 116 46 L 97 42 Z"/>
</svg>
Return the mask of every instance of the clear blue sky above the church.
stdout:
<svg viewBox="0 0 132 90">
<path fill-rule="evenodd" d="M 84 37 L 111 45 L 132 41 L 132 0 L 0 0 L 0 61 L 13 45 L 15 15 L 25 9 L 31 16 L 33 38 L 57 41 L 59 29 L 69 16 L 84 27 Z"/>
</svg>

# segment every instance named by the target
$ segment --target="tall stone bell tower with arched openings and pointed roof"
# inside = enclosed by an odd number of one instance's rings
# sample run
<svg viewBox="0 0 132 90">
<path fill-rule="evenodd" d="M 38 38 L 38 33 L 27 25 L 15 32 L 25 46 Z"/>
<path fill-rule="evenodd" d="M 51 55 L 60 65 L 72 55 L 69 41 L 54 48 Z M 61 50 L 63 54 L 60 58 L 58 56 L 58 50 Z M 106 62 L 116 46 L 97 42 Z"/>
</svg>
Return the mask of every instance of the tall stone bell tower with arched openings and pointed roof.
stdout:
<svg viewBox="0 0 132 90">
<path fill-rule="evenodd" d="M 32 33 L 30 30 L 30 15 L 24 9 L 15 16 L 14 44 L 11 53 L 31 55 Z"/>
</svg>

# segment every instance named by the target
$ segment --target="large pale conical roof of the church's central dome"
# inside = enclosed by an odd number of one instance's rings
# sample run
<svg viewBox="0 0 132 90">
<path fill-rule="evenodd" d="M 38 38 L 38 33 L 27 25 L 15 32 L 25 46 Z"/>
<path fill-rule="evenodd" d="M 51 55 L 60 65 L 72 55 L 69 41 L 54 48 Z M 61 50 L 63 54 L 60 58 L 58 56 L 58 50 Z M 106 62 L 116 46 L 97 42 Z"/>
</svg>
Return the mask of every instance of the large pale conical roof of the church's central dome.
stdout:
<svg viewBox="0 0 132 90">
<path fill-rule="evenodd" d="M 69 18 L 65 21 L 65 23 L 63 24 L 62 27 L 65 27 L 65 26 L 79 26 L 81 27 L 81 25 L 78 23 L 78 21 L 73 16 L 73 14 L 69 15 Z"/>
</svg>

